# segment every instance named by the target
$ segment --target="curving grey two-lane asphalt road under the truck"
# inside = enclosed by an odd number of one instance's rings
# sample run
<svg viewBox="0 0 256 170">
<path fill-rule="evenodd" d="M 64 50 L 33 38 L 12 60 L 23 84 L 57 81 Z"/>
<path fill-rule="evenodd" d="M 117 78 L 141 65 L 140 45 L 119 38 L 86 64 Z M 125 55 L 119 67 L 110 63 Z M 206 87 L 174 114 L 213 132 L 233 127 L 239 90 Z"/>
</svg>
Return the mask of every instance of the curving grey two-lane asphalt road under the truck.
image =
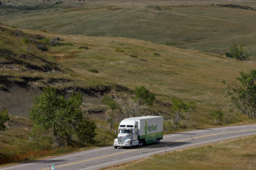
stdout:
<svg viewBox="0 0 256 170">
<path fill-rule="evenodd" d="M 113 146 L 101 147 L 0 169 L 51 169 L 51 165 L 55 165 L 56 170 L 99 169 L 109 167 L 110 165 L 142 159 L 152 154 L 165 152 L 166 149 L 167 151 L 175 151 L 189 146 L 205 145 L 255 134 L 256 124 L 185 131 L 182 133 L 164 135 L 163 140 L 161 140 L 159 144 L 135 147 L 132 149 L 115 149 Z"/>
</svg>

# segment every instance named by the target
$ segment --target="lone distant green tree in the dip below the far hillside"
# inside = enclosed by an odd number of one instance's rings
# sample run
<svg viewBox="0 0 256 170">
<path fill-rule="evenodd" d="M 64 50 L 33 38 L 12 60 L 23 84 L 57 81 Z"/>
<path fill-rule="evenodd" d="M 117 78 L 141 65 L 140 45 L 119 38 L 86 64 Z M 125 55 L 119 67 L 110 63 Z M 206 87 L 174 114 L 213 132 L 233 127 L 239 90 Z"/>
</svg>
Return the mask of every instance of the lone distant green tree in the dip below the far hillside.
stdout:
<svg viewBox="0 0 256 170">
<path fill-rule="evenodd" d="M 243 49 L 242 45 L 233 44 L 230 47 L 229 52 L 226 52 L 226 57 L 236 58 L 242 61 L 247 57 L 247 56 L 243 56 L 244 52 L 245 50 Z"/>
</svg>

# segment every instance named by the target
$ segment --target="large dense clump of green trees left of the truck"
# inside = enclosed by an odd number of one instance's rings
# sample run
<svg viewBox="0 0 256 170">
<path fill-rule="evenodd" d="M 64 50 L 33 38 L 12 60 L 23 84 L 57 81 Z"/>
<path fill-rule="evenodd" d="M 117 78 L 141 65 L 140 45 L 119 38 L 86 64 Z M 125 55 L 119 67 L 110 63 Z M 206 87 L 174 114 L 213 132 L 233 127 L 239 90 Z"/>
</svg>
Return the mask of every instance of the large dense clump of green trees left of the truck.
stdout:
<svg viewBox="0 0 256 170">
<path fill-rule="evenodd" d="M 30 112 L 34 130 L 38 133 L 42 130 L 46 133 L 52 132 L 55 139 L 60 139 L 60 141 L 65 139 L 68 144 L 73 134 L 77 134 L 80 141 L 84 141 L 86 134 L 82 135 L 79 131 L 90 127 L 86 126 L 88 122 L 82 117 L 82 111 L 79 108 L 81 104 L 81 94 L 72 94 L 66 100 L 64 96 L 58 95 L 56 90 L 44 88 L 43 93 L 35 98 Z M 83 123 L 86 125 L 82 125 Z M 91 128 L 91 131 L 94 131 L 94 126 Z M 88 138 L 92 136 L 93 134 L 90 133 Z"/>
</svg>

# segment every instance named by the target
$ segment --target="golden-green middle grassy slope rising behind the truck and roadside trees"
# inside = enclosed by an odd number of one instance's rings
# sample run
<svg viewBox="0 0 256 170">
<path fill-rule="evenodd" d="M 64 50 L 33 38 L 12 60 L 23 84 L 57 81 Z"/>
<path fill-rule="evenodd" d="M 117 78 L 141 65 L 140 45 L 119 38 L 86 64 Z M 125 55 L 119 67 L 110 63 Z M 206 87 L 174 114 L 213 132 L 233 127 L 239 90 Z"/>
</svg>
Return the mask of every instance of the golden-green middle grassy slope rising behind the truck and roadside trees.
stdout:
<svg viewBox="0 0 256 170">
<path fill-rule="evenodd" d="M 43 35 L 59 36 L 75 44 L 68 47 L 52 46 L 46 54 L 75 70 L 77 75 L 86 80 L 117 83 L 131 89 L 144 85 L 156 94 L 158 100 L 166 103 L 171 103 L 171 99 L 175 98 L 195 100 L 197 113 L 194 121 L 197 123 L 212 122 L 208 113 L 217 108 L 222 108 L 227 114 L 226 122 L 236 120 L 228 116 L 231 114 L 229 100 L 224 97 L 221 82 L 233 81 L 240 71 L 247 72 L 255 68 L 254 63 L 218 54 L 135 39 L 53 33 Z M 80 49 L 80 46 L 88 46 L 89 49 Z M 96 69 L 99 73 L 91 73 L 88 71 L 90 69 Z M 159 111 L 168 113 L 168 108 Z"/>
</svg>

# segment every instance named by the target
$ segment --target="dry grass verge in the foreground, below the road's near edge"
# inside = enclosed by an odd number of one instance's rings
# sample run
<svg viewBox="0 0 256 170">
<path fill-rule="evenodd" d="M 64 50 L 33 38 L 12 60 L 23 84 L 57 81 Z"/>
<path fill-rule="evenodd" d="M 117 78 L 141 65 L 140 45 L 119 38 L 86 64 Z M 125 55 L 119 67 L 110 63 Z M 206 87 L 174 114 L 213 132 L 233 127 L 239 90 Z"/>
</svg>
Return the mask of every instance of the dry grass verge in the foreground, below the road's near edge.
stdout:
<svg viewBox="0 0 256 170">
<path fill-rule="evenodd" d="M 196 146 L 104 169 L 255 169 L 256 136 Z M 221 159 L 220 159 L 221 155 Z"/>
</svg>

